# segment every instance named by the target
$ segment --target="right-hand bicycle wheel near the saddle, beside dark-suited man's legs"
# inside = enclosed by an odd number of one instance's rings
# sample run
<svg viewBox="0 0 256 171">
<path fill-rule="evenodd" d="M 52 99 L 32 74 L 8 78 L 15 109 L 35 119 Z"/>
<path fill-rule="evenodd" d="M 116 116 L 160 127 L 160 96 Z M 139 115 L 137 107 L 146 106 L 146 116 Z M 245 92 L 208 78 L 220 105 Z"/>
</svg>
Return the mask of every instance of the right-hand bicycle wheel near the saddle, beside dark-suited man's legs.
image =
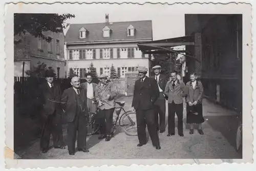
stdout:
<svg viewBox="0 0 256 171">
<path fill-rule="evenodd" d="M 137 133 L 137 119 L 136 113 L 133 111 L 127 111 L 122 114 L 119 125 L 122 127 L 122 130 L 126 135 L 136 136 Z"/>
</svg>

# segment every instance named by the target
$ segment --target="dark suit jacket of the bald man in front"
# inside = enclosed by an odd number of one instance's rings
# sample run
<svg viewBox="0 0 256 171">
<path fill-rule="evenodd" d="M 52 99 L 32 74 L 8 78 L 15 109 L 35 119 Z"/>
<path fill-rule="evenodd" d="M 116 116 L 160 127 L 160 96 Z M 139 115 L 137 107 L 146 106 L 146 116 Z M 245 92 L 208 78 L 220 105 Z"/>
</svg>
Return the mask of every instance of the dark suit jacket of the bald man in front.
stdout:
<svg viewBox="0 0 256 171">
<path fill-rule="evenodd" d="M 77 110 L 81 111 L 82 115 L 86 116 L 88 114 L 88 108 L 87 108 L 87 94 L 85 89 L 79 89 L 80 90 L 80 99 L 82 100 L 82 104 L 80 106 L 81 109 L 77 109 L 77 100 L 76 100 L 76 91 L 73 87 L 66 89 L 61 97 L 61 106 L 62 109 L 65 110 L 65 117 L 67 122 L 73 122 L 75 119 L 75 116 L 77 114 Z"/>
</svg>

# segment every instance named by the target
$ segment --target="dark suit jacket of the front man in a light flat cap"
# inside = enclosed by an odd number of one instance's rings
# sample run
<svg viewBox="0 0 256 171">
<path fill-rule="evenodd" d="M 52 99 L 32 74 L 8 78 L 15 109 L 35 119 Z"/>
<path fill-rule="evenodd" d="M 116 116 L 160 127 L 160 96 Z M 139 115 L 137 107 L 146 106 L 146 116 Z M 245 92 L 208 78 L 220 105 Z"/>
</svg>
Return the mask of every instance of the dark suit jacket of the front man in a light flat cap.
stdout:
<svg viewBox="0 0 256 171">
<path fill-rule="evenodd" d="M 158 97 L 156 80 L 146 76 L 143 82 L 140 79 L 135 82 L 132 106 L 135 110 L 153 109 Z"/>
</svg>

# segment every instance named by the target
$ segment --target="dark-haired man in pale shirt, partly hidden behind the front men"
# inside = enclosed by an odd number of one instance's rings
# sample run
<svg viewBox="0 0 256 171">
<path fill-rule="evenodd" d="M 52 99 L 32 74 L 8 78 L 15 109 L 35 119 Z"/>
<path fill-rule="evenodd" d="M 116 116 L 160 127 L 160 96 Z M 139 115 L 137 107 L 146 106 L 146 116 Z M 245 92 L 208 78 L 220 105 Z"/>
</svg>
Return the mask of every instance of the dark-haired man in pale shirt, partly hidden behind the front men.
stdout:
<svg viewBox="0 0 256 171">
<path fill-rule="evenodd" d="M 87 82 L 81 83 L 81 88 L 86 89 L 87 92 L 87 108 L 90 113 L 96 113 L 97 110 L 97 104 L 95 99 L 95 87 L 97 86 L 96 83 L 92 82 L 92 74 L 87 73 L 86 74 L 86 80 Z M 95 122 L 95 129 L 98 127 L 98 119 Z M 99 131 L 98 131 L 99 132 Z"/>
</svg>

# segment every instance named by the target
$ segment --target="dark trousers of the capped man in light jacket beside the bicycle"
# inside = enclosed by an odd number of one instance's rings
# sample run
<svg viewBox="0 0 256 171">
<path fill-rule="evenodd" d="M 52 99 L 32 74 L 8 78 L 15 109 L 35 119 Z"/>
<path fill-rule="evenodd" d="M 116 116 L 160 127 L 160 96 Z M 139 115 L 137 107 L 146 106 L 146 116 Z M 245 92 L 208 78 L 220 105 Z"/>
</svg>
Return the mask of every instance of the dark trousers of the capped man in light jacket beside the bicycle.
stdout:
<svg viewBox="0 0 256 171">
<path fill-rule="evenodd" d="M 111 135 L 114 110 L 115 108 L 99 110 L 99 130 L 101 135 Z"/>
</svg>

